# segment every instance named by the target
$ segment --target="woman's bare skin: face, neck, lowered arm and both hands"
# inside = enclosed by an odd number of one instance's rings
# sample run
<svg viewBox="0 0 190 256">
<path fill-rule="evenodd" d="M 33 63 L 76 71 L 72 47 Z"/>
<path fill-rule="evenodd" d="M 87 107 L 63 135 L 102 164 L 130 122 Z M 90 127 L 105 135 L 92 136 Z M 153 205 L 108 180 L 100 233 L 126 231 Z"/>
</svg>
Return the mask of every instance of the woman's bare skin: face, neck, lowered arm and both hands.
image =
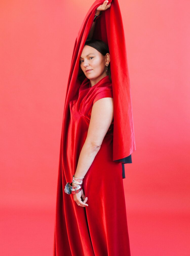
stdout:
<svg viewBox="0 0 190 256">
<path fill-rule="evenodd" d="M 97 8 L 97 11 L 108 9 L 111 4 L 107 5 L 107 3 L 108 1 L 104 1 L 104 3 Z M 94 28 L 92 27 L 92 29 Z M 88 45 L 84 46 L 80 58 L 80 67 L 84 72 L 85 76 L 90 80 L 91 86 L 94 86 L 103 77 L 107 76 L 106 64 L 109 65 L 109 63 L 109 53 L 103 56 L 93 47 Z M 86 72 L 87 69 L 92 69 L 92 71 Z M 105 134 L 107 133 L 113 121 L 113 113 L 113 98 L 102 98 L 97 100 L 93 104 L 87 137 L 79 155 L 74 177 L 85 177 L 88 169 L 94 161 L 95 156 L 99 152 Z M 72 183 L 71 185 L 77 186 L 77 184 L 75 183 Z M 96 188 L 94 187 L 94 189 Z M 73 197 L 77 205 L 80 204 L 78 206 L 88 206 L 88 204 L 86 203 L 88 197 L 85 197 L 83 189 L 81 189 L 79 193 L 73 194 Z M 96 204 L 96 202 L 92 203 Z"/>
</svg>

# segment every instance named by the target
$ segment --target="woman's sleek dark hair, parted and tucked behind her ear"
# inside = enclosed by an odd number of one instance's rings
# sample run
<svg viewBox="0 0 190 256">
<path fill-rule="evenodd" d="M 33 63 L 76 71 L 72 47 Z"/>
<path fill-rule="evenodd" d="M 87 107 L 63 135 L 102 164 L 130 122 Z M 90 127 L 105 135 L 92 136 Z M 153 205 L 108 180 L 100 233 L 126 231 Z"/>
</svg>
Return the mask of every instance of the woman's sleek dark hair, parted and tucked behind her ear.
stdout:
<svg viewBox="0 0 190 256">
<path fill-rule="evenodd" d="M 103 56 L 106 55 L 106 53 L 110 53 L 108 46 L 102 41 L 98 39 L 88 40 L 85 42 L 85 45 L 89 45 L 93 48 L 95 48 L 97 51 L 99 51 Z M 111 69 L 110 69 L 110 63 L 108 65 L 108 72 L 107 75 L 111 80 Z"/>
</svg>

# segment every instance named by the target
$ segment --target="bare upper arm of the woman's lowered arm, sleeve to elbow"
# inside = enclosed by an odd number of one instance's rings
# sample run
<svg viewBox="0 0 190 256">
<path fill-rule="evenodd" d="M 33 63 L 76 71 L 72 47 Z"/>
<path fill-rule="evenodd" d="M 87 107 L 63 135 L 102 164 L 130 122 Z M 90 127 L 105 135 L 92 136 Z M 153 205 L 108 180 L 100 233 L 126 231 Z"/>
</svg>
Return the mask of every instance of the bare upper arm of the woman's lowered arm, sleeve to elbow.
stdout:
<svg viewBox="0 0 190 256">
<path fill-rule="evenodd" d="M 93 146 L 101 146 L 102 141 L 113 121 L 113 98 L 105 97 L 92 106 L 91 118 L 86 142 Z"/>
</svg>

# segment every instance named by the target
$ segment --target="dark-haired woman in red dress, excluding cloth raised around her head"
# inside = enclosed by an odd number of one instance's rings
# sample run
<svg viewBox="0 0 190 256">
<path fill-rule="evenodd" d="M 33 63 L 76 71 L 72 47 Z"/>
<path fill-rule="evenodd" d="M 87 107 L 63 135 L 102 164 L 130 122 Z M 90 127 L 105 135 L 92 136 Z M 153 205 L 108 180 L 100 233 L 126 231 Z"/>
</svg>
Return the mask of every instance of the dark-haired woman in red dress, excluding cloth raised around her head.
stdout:
<svg viewBox="0 0 190 256">
<path fill-rule="evenodd" d="M 71 85 L 75 73 L 69 78 L 57 188 L 57 256 L 130 255 L 121 162 L 131 162 L 128 153 L 134 151 L 134 144 L 129 143 L 133 147 L 128 151 L 123 151 L 121 145 L 113 154 L 115 116 L 117 121 L 114 113 L 119 109 L 115 110 L 114 105 L 112 56 L 104 41 L 92 39 L 96 22 L 110 7 L 108 1 L 96 6 L 88 37 L 78 51 L 74 87 Z M 73 57 L 75 52 L 74 49 Z M 123 127 L 121 120 L 120 126 Z M 120 139 L 121 136 L 117 141 Z M 113 159 L 115 156 L 121 157 Z"/>
</svg>

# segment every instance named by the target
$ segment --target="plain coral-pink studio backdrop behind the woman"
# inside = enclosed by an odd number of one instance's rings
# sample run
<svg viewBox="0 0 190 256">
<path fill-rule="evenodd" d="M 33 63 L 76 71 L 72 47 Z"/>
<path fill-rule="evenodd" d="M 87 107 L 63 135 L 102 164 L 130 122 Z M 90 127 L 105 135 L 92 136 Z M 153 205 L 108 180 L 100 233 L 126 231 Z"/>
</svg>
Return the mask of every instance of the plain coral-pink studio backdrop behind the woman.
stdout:
<svg viewBox="0 0 190 256">
<path fill-rule="evenodd" d="M 2 255 L 53 254 L 65 92 L 92 3 L 1 1 Z M 136 140 L 123 180 L 131 255 L 190 255 L 190 2 L 119 4 Z"/>
</svg>

